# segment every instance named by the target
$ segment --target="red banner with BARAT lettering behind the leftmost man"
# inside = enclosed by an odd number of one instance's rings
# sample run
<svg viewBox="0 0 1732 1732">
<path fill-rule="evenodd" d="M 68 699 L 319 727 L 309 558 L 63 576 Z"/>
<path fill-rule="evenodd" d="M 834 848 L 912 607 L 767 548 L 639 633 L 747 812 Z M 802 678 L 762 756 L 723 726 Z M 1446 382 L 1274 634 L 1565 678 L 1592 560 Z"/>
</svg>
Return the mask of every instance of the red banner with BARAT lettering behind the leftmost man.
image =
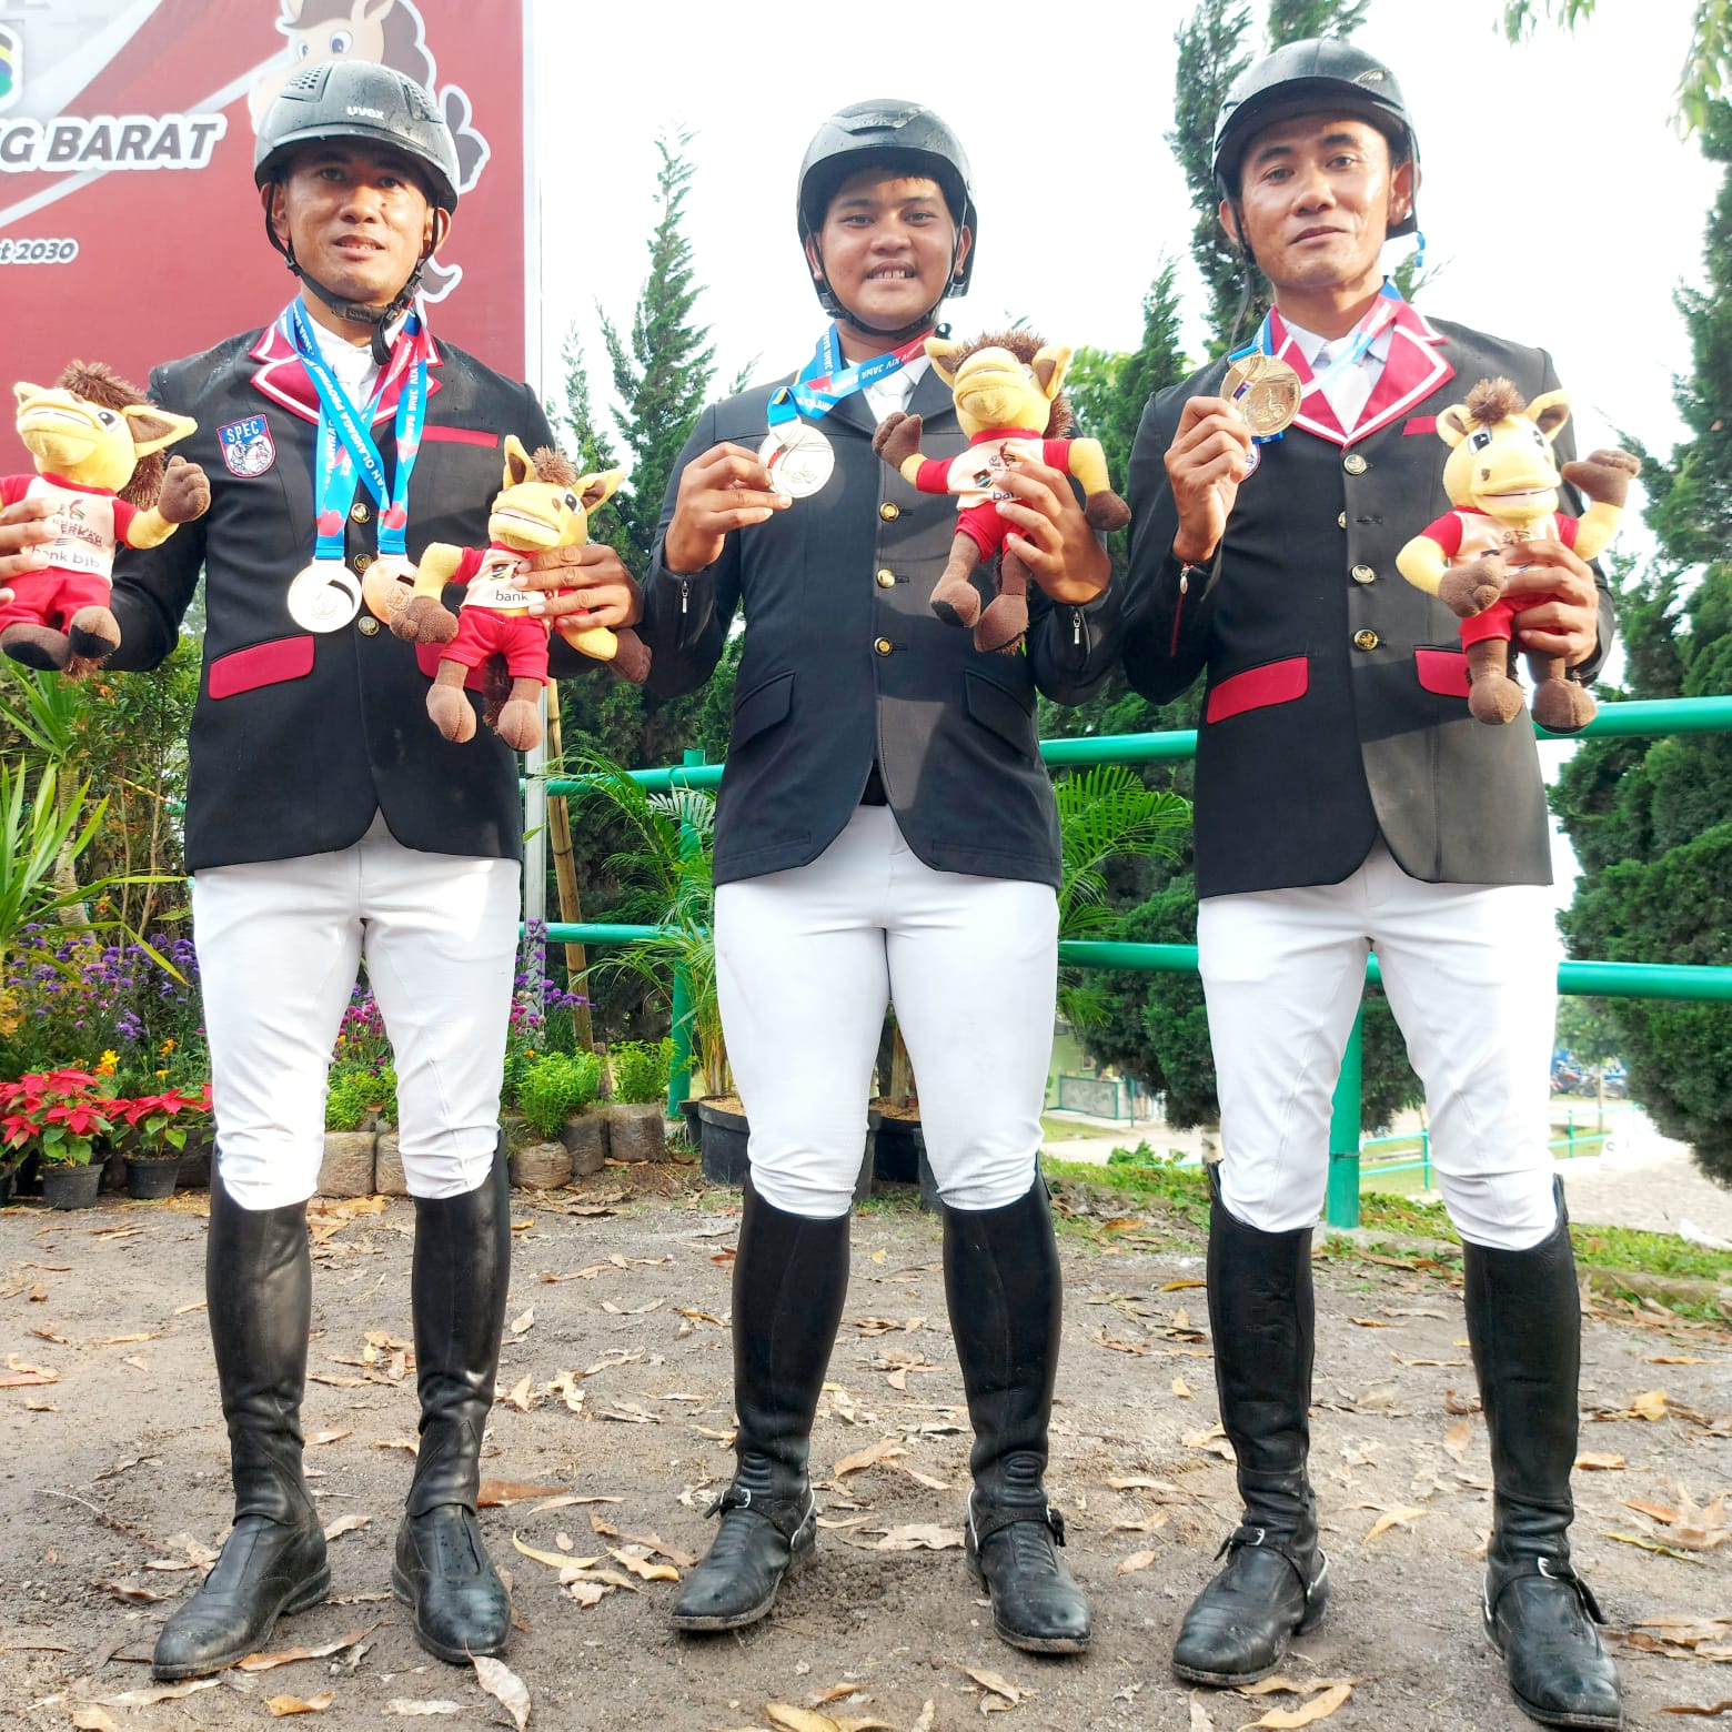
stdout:
<svg viewBox="0 0 1732 1732">
<path fill-rule="evenodd" d="M 0 390 L 73 359 L 156 362 L 268 324 L 294 279 L 253 189 L 255 118 L 300 68 L 383 61 L 457 137 L 423 291 L 438 336 L 525 365 L 528 0 L 54 0 L 0 16 Z M 485 21 L 485 23 L 483 23 Z M 0 419 L 0 473 L 28 471 Z"/>
</svg>

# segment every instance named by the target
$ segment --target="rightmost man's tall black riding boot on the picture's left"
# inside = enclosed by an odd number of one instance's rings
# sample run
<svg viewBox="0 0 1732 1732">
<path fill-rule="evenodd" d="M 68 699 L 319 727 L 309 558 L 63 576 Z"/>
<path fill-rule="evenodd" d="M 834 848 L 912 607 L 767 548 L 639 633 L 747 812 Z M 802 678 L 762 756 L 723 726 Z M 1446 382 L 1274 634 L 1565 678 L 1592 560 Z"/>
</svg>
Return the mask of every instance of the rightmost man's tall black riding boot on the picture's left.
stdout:
<svg viewBox="0 0 1732 1732">
<path fill-rule="evenodd" d="M 1328 1559 L 1316 1543 L 1311 1448 L 1311 1230 L 1263 1233 L 1209 1186 L 1209 1328 L 1221 1425 L 1238 1462 L 1244 1521 L 1226 1567 L 1192 1600 L 1173 1670 L 1186 1684 L 1266 1678 L 1323 1616 Z"/>
</svg>

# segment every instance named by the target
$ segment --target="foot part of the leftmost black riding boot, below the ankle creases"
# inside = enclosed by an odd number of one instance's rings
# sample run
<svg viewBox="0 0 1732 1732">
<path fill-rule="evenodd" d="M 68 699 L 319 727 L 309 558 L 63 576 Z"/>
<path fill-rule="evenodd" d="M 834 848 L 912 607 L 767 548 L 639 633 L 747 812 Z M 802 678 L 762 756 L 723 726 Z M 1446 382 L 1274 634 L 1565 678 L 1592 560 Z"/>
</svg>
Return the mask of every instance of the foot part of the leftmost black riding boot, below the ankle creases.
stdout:
<svg viewBox="0 0 1732 1732">
<path fill-rule="evenodd" d="M 331 1564 L 317 1528 L 282 1528 L 242 1516 L 211 1573 L 156 1638 L 151 1675 L 203 1678 L 256 1654 L 279 1618 L 317 1606 L 331 1592 Z"/>
</svg>

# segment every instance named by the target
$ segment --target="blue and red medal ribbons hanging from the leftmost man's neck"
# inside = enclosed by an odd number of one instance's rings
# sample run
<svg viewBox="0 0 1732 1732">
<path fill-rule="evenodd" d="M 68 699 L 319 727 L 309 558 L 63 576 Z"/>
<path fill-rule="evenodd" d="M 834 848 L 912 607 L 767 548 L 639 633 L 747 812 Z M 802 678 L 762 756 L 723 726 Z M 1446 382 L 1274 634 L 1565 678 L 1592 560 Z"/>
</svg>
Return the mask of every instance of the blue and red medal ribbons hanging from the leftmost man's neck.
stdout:
<svg viewBox="0 0 1732 1732">
<path fill-rule="evenodd" d="M 407 558 L 409 476 L 421 452 L 421 426 L 426 421 L 428 404 L 428 346 L 419 315 L 410 313 L 404 320 L 398 341 L 391 348 L 391 364 L 379 374 L 379 385 L 371 398 L 371 402 L 378 402 L 393 381 L 402 383 L 393 424 L 397 438 L 395 481 L 385 471 L 385 459 L 379 456 L 365 417 L 350 402 L 343 383 L 320 353 L 319 339 L 307 324 L 298 300 L 289 301 L 279 320 L 279 329 L 294 345 L 294 352 L 301 357 L 301 365 L 319 393 L 319 473 L 313 483 L 319 542 L 313 549 L 313 559 L 343 563 L 343 514 L 355 492 L 355 469 L 360 471 L 367 492 L 381 506 L 379 553 L 398 559 Z"/>
</svg>

